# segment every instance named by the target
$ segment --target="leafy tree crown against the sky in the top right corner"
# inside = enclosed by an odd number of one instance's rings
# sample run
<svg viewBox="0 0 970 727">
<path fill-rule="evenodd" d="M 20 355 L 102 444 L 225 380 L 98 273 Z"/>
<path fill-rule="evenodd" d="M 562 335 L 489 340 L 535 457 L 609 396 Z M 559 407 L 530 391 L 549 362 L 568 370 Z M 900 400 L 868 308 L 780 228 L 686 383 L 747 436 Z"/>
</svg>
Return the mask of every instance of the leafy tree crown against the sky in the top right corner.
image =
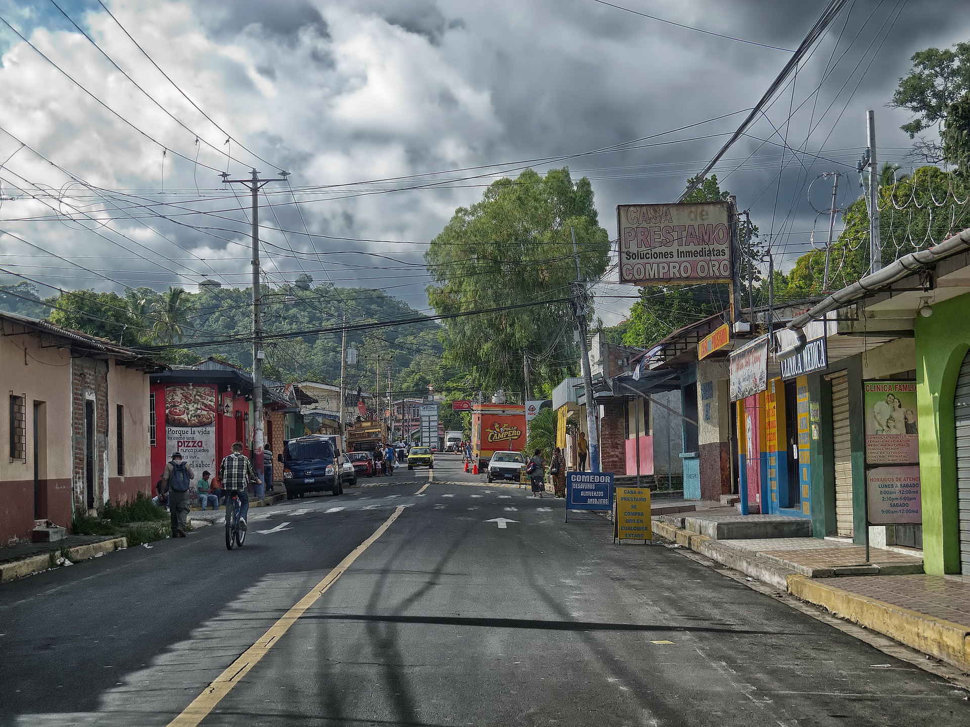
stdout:
<svg viewBox="0 0 970 727">
<path fill-rule="evenodd" d="M 928 47 L 913 54 L 913 70 L 899 79 L 889 106 L 915 115 L 900 128 L 913 139 L 923 129 L 943 123 L 951 104 L 970 91 L 970 43 L 955 50 Z"/>
</svg>

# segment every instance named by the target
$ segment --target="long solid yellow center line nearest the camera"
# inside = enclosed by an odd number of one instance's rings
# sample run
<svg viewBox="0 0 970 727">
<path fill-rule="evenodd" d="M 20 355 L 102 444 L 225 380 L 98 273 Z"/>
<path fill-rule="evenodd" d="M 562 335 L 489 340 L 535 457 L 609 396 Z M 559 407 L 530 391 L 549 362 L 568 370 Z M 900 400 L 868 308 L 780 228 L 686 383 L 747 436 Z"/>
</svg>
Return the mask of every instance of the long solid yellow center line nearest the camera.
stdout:
<svg viewBox="0 0 970 727">
<path fill-rule="evenodd" d="M 428 486 L 426 485 L 425 487 Z M 370 538 L 343 558 L 337 567 L 327 574 L 326 578 L 317 585 L 314 585 L 307 595 L 297 601 L 296 605 L 283 614 L 283 616 L 280 616 L 279 620 L 270 626 L 267 632 L 256 640 L 255 644 L 247 648 L 242 653 L 242 656 L 236 659 L 222 674 L 216 677 L 202 694 L 196 697 L 192 701 L 192 704 L 185 708 L 185 711 L 182 711 L 181 714 L 169 722 L 169 727 L 196 727 L 196 725 L 202 722 L 210 711 L 215 709 L 215 706 L 222 701 L 222 698 L 232 691 L 232 688 L 236 686 L 237 682 L 259 663 L 259 660 L 269 652 L 270 648 L 279 641 L 279 638 L 289 630 L 290 626 L 296 623 L 297 619 L 303 616 L 307 612 L 307 609 L 316 603 L 320 596 L 330 589 L 331 585 L 337 582 L 337 579 L 350 568 L 353 562 L 364 551 L 370 548 L 374 541 L 383 535 L 387 528 L 391 526 L 391 523 L 396 521 L 403 512 L 404 505 L 399 506 L 390 518 L 373 531 Z"/>
</svg>

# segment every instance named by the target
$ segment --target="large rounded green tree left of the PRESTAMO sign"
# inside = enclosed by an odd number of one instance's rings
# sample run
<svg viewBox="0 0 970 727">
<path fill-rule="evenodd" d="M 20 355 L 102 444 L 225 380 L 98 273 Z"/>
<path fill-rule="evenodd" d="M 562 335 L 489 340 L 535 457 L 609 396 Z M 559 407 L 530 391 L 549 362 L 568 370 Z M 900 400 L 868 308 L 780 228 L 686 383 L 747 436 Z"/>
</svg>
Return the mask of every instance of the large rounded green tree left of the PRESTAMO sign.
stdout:
<svg viewBox="0 0 970 727">
<path fill-rule="evenodd" d="M 597 278 L 610 242 L 589 180 L 573 182 L 568 169 L 499 179 L 481 202 L 455 210 L 432 240 L 428 299 L 439 314 L 451 314 L 566 298 L 576 279 L 570 228 L 583 276 Z M 441 332 L 444 360 L 481 388 L 519 392 L 527 354 L 538 358 L 533 385 L 571 369 L 572 330 L 567 302 L 451 319 Z"/>
</svg>

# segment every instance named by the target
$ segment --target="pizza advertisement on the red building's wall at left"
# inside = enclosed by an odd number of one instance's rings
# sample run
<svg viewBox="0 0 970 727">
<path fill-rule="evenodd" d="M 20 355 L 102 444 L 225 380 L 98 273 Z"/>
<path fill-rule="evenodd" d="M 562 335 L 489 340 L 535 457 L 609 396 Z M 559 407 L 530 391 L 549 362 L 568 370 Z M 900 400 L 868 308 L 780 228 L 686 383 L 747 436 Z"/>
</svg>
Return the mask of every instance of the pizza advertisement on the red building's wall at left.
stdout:
<svg viewBox="0 0 970 727">
<path fill-rule="evenodd" d="M 165 387 L 166 456 L 181 454 L 194 470 L 215 473 L 215 387 Z"/>
</svg>

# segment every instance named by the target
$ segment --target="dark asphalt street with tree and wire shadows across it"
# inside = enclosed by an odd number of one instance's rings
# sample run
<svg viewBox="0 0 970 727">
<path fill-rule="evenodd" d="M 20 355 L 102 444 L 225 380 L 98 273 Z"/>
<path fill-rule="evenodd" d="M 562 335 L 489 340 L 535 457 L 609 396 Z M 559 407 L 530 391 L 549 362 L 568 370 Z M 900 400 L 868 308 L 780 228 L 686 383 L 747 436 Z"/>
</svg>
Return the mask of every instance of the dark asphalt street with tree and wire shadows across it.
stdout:
<svg viewBox="0 0 970 727">
<path fill-rule="evenodd" d="M 197 697 L 204 725 L 970 723 L 946 681 L 458 461 L 253 509 L 232 552 L 200 527 L 0 586 L 0 723 L 164 725 Z"/>
</svg>

